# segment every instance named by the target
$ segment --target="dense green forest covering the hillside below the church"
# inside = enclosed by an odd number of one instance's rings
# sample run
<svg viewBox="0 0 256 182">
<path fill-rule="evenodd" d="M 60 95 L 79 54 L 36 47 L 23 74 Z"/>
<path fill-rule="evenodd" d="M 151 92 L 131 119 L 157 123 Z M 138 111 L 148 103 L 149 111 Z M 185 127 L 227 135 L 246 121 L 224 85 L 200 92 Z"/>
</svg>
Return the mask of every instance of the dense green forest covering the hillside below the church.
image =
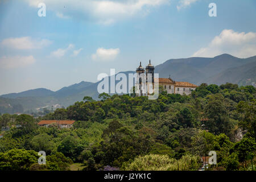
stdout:
<svg viewBox="0 0 256 182">
<path fill-rule="evenodd" d="M 85 96 L 42 118 L 2 114 L 1 170 L 256 170 L 256 89 L 201 84 L 189 96 L 157 100 L 130 95 Z M 75 120 L 70 129 L 39 127 L 42 119 Z M 38 152 L 46 151 L 46 165 Z"/>
</svg>

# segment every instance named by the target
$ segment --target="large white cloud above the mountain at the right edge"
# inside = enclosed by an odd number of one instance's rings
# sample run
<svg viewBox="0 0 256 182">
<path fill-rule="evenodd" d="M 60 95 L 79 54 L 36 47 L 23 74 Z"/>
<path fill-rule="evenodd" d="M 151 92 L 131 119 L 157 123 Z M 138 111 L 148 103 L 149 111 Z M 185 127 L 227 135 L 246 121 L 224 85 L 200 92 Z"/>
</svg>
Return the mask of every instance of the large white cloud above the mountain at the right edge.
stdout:
<svg viewBox="0 0 256 182">
<path fill-rule="evenodd" d="M 193 57 L 214 57 L 222 53 L 229 53 L 237 57 L 256 55 L 256 32 L 235 32 L 223 30 L 207 47 L 193 53 Z"/>
</svg>

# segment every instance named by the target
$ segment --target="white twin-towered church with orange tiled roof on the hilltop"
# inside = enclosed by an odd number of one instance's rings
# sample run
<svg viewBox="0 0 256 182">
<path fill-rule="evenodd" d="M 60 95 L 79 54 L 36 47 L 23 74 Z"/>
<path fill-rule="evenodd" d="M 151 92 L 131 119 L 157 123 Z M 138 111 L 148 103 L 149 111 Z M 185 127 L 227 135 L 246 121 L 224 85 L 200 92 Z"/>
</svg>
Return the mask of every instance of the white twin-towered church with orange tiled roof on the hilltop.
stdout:
<svg viewBox="0 0 256 182">
<path fill-rule="evenodd" d="M 158 82 L 159 86 L 162 86 L 163 89 L 170 94 L 189 95 L 191 94 L 192 90 L 195 90 L 197 87 L 197 85 L 189 82 L 172 80 L 171 76 L 169 78 L 155 78 L 154 70 L 155 68 L 151 64 L 151 61 L 149 61 L 146 69 L 144 69 L 140 63 L 136 70 L 138 76 L 136 86 L 139 89 L 137 96 L 147 96 L 148 94 L 154 92 L 156 82 Z M 151 90 L 151 92 L 148 92 L 148 90 Z"/>
</svg>

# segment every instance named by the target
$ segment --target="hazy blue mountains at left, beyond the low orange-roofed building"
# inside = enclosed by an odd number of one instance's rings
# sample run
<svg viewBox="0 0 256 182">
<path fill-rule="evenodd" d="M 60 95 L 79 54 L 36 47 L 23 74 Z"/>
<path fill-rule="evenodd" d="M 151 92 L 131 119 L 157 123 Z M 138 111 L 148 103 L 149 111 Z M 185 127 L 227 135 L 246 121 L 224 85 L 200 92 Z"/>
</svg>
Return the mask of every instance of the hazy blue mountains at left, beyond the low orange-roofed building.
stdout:
<svg viewBox="0 0 256 182">
<path fill-rule="evenodd" d="M 53 92 L 48 89 L 33 89 L 20 93 L 10 93 L 0 96 L 0 113 L 15 113 L 17 106 L 22 105 L 20 110 L 35 110 L 38 107 L 52 106 L 59 104 L 61 106 L 68 106 L 73 104 L 76 100 L 69 100 L 69 96 L 74 96 L 84 91 L 87 86 L 94 84 L 93 82 L 81 81 L 79 84 L 66 86 Z M 78 101 L 78 100 L 77 100 Z"/>
</svg>

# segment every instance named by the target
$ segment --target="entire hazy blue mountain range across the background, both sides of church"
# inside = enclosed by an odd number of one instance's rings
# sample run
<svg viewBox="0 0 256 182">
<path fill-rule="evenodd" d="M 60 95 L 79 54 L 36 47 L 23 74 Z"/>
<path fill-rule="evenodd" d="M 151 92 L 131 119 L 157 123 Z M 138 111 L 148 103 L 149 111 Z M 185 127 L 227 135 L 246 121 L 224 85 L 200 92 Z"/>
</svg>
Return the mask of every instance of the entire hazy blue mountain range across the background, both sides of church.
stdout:
<svg viewBox="0 0 256 182">
<path fill-rule="evenodd" d="M 134 71 L 123 73 L 128 75 Z M 155 73 L 159 73 L 159 77 L 168 78 L 171 76 L 176 81 L 188 81 L 196 85 L 203 82 L 217 85 L 226 82 L 251 85 L 252 82 L 256 82 L 256 56 L 240 59 L 223 54 L 213 58 L 170 59 L 163 64 L 155 65 Z M 56 92 L 39 88 L 20 93 L 4 94 L 0 96 L 0 113 L 14 113 L 22 109 L 23 111 L 35 110 L 38 107 L 56 104 L 67 107 L 76 101 L 82 101 L 84 96 L 97 99 L 97 86 L 98 82 L 82 81 L 79 84 L 61 88 Z"/>
</svg>

